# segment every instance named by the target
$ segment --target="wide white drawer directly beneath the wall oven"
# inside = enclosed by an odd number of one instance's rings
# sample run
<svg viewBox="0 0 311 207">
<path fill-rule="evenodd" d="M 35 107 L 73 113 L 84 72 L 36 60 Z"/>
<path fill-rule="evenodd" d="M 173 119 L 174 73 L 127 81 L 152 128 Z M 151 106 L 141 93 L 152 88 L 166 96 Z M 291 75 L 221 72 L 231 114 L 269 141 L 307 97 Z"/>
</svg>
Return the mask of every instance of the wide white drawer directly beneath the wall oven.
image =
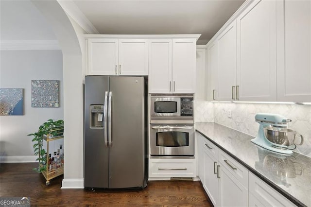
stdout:
<svg viewBox="0 0 311 207">
<path fill-rule="evenodd" d="M 149 177 L 196 177 L 195 159 L 149 159 Z"/>
</svg>

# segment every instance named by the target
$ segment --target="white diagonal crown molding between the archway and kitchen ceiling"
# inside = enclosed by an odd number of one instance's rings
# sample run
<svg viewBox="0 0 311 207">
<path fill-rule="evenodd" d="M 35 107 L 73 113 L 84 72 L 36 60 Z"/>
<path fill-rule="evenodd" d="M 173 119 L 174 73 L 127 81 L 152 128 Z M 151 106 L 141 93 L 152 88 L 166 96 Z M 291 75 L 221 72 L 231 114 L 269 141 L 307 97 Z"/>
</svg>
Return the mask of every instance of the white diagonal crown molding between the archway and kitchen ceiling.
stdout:
<svg viewBox="0 0 311 207">
<path fill-rule="evenodd" d="M 99 34 L 94 25 L 86 18 L 77 5 L 72 0 L 57 0 L 67 15 L 86 31 L 87 34 Z"/>
</svg>

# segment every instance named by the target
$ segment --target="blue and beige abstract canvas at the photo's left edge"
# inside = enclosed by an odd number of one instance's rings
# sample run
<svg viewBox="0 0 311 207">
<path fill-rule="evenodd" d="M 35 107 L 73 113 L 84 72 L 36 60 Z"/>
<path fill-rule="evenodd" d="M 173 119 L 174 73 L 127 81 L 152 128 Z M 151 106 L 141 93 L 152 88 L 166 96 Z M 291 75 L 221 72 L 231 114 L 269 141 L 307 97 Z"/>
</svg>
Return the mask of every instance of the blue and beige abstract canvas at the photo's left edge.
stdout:
<svg viewBox="0 0 311 207">
<path fill-rule="evenodd" d="M 0 88 L 0 115 L 24 115 L 23 88 Z"/>
</svg>

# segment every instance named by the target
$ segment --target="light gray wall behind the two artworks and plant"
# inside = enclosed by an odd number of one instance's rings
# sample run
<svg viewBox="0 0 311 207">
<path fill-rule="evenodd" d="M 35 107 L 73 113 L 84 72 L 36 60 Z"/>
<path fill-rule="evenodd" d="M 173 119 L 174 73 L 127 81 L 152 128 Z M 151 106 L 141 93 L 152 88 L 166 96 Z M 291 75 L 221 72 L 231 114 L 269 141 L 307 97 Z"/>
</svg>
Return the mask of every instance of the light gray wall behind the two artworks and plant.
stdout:
<svg viewBox="0 0 311 207">
<path fill-rule="evenodd" d="M 24 88 L 24 115 L 0 116 L 0 161 L 34 161 L 32 138 L 48 119 L 63 119 L 63 60 L 60 50 L 0 51 L 0 87 Z M 31 107 L 32 80 L 59 80 L 60 107 Z M 4 157 L 3 156 L 9 156 Z M 13 157 L 11 157 L 13 156 Z"/>
</svg>

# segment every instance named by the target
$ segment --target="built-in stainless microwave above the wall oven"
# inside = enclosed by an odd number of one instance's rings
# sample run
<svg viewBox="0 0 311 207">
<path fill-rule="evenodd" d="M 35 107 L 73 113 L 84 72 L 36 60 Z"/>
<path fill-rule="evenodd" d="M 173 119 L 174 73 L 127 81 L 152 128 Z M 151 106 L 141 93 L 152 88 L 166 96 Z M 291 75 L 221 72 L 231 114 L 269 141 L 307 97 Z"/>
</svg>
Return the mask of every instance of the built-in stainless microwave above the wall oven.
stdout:
<svg viewBox="0 0 311 207">
<path fill-rule="evenodd" d="M 193 94 L 150 94 L 150 123 L 193 124 Z"/>
</svg>

